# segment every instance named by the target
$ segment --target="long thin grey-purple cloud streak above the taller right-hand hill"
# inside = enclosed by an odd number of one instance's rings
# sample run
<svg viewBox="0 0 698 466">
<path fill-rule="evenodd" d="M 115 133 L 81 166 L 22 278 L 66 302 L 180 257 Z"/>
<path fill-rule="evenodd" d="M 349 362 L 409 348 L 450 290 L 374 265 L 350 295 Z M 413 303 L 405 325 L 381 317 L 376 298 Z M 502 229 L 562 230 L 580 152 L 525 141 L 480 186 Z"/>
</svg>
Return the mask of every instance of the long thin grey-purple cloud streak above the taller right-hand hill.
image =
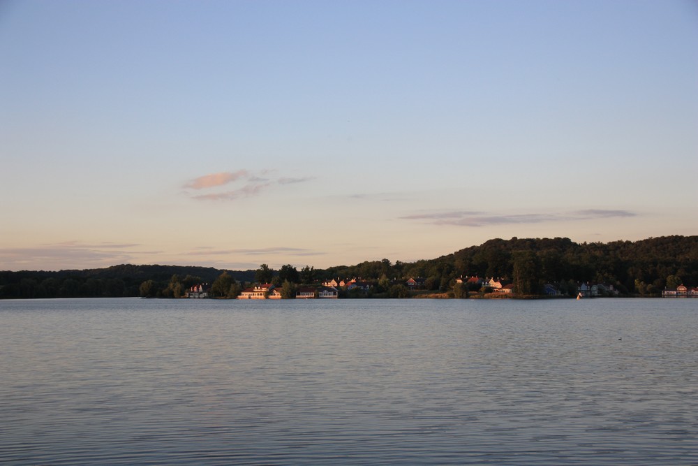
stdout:
<svg viewBox="0 0 698 466">
<path fill-rule="evenodd" d="M 588 209 L 561 213 L 526 213 L 526 214 L 487 214 L 470 210 L 425 212 L 400 217 L 405 220 L 423 220 L 433 225 L 454 226 L 488 226 L 505 224 L 540 224 L 555 221 L 579 221 L 591 219 L 609 219 L 614 217 L 635 217 L 637 214 L 628 210 Z"/>
</svg>

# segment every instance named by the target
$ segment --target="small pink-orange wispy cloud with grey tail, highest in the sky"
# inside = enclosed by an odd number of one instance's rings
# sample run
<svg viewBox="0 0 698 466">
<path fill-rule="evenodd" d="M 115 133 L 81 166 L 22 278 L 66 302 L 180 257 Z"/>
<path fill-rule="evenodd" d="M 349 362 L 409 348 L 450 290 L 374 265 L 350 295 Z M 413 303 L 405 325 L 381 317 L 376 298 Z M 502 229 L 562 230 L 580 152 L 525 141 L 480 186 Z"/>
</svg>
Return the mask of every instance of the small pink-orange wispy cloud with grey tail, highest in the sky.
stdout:
<svg viewBox="0 0 698 466">
<path fill-rule="evenodd" d="M 258 173 L 253 173 L 248 170 L 237 170 L 235 172 L 211 173 L 203 175 L 184 184 L 184 189 L 194 189 L 196 191 L 206 190 L 202 194 L 189 194 L 191 198 L 198 201 L 234 201 L 239 198 L 249 198 L 259 196 L 269 187 L 274 185 L 297 184 L 314 180 L 315 177 L 269 177 L 274 170 L 260 170 Z M 226 184 L 242 182 L 244 186 L 227 191 L 211 191 Z"/>
</svg>

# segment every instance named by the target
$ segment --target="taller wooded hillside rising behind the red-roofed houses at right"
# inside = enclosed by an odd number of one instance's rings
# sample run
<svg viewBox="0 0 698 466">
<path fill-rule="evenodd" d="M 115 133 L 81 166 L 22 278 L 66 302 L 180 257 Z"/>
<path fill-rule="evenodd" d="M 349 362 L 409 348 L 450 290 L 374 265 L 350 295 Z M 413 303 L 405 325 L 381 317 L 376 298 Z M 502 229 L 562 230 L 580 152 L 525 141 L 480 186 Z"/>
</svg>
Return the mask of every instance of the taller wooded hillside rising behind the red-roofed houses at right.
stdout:
<svg viewBox="0 0 698 466">
<path fill-rule="evenodd" d="M 530 291 L 540 284 L 611 284 L 625 294 L 658 295 L 664 286 L 698 286 L 698 236 L 665 236 L 636 242 L 572 242 L 569 238 L 494 239 L 447 256 L 415 263 L 368 261 L 334 267 L 329 277 L 424 277 L 428 289 L 446 291 L 456 277 L 526 275 Z M 571 286 L 571 285 L 570 285 Z"/>
</svg>

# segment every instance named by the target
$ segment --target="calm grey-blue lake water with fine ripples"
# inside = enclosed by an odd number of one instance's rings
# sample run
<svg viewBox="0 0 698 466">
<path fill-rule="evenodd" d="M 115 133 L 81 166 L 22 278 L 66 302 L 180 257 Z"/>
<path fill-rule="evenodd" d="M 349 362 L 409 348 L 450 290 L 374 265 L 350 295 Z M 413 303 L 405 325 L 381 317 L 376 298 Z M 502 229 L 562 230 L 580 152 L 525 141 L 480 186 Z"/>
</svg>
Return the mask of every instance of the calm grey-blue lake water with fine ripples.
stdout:
<svg viewBox="0 0 698 466">
<path fill-rule="evenodd" d="M 697 330 L 698 299 L 0 301 L 0 463 L 696 465 Z"/>
</svg>

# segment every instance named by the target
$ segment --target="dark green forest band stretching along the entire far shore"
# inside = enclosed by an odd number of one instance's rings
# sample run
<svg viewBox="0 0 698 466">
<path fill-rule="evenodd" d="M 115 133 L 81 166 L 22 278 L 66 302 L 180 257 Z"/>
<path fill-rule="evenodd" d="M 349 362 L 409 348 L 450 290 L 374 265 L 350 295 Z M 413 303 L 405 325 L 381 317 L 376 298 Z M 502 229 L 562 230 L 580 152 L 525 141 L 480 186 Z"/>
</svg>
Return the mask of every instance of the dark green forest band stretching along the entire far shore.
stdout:
<svg viewBox="0 0 698 466">
<path fill-rule="evenodd" d="M 225 275 L 223 275 L 225 274 Z M 223 275 L 223 279 L 221 279 Z M 0 298 L 181 296 L 198 283 L 227 287 L 275 281 L 312 284 L 329 278 L 374 280 L 378 289 L 424 277 L 424 288 L 452 291 L 457 277 L 502 277 L 519 294 L 535 295 L 546 283 L 570 294 L 577 284 L 609 284 L 626 296 L 659 296 L 665 286 L 698 286 L 698 236 L 665 236 L 640 241 L 576 243 L 569 238 L 494 239 L 437 259 L 413 263 L 388 259 L 325 270 L 234 271 L 176 265 L 114 265 L 94 270 L 0 272 Z M 216 282 L 218 280 L 218 282 Z M 224 289 L 225 288 L 225 289 Z M 214 288 L 215 290 L 215 288 Z M 215 293 L 214 293 L 215 294 Z"/>
</svg>

